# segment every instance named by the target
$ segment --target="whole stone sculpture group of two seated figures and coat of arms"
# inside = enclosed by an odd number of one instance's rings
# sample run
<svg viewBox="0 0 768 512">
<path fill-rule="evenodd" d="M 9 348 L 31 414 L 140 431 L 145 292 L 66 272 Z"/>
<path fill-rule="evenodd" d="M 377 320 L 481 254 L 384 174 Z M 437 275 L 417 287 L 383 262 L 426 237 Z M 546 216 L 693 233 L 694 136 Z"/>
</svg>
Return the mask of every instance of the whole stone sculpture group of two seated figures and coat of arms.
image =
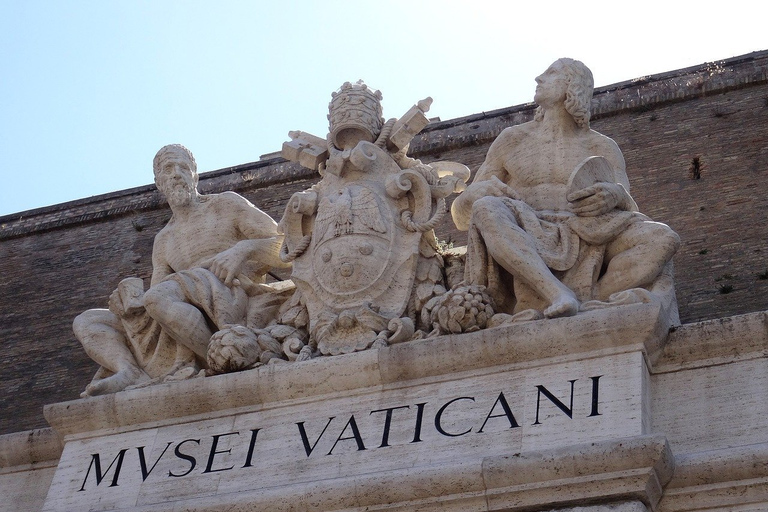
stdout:
<svg viewBox="0 0 768 512">
<path fill-rule="evenodd" d="M 469 185 L 460 163 L 407 156 L 431 98 L 385 121 L 379 91 L 345 83 L 328 136 L 291 132 L 283 145 L 321 179 L 279 224 L 233 192 L 198 193 L 192 153 L 160 149 L 155 183 L 173 215 L 155 237 L 148 289 L 125 279 L 108 309 L 75 319 L 101 366 L 82 395 L 674 304 L 680 240 L 638 211 L 621 151 L 590 129 L 592 73 L 560 59 L 536 83 L 534 120 L 505 129 Z M 454 193 L 450 213 L 468 231 L 458 279 L 433 230 Z M 287 267 L 291 280 L 265 282 Z"/>
</svg>

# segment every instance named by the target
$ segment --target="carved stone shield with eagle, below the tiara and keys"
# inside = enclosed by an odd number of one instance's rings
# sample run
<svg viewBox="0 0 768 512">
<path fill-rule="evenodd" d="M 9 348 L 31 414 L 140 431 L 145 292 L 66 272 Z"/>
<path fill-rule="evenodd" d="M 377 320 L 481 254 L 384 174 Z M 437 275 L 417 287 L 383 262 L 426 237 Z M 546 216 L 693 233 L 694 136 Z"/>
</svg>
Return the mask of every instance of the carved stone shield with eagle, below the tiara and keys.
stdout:
<svg viewBox="0 0 768 512">
<path fill-rule="evenodd" d="M 413 289 L 421 233 L 401 222 L 411 207 L 408 195 L 387 191 L 401 169 L 370 143 L 352 153 L 313 188 L 312 241 L 294 261 L 292 278 L 305 297 L 310 330 L 321 317 L 360 308 L 398 318 Z"/>
</svg>

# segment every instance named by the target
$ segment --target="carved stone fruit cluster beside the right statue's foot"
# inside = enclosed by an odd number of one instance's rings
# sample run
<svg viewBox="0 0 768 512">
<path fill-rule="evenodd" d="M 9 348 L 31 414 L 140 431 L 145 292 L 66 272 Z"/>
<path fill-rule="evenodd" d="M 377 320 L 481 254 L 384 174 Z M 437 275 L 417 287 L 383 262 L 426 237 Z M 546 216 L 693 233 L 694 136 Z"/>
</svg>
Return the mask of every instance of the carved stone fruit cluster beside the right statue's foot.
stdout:
<svg viewBox="0 0 768 512">
<path fill-rule="evenodd" d="M 432 325 L 432 333 L 461 334 L 485 329 L 494 315 L 493 299 L 485 286 L 457 286 L 431 299 L 421 312 L 422 321 Z"/>
</svg>

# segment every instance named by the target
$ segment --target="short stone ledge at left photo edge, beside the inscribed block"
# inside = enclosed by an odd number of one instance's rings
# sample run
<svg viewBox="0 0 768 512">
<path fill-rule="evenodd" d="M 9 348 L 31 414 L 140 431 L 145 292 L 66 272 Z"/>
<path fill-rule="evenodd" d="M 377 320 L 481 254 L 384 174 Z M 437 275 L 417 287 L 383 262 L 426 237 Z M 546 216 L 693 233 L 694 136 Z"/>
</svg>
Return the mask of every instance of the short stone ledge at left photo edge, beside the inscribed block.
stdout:
<svg viewBox="0 0 768 512">
<path fill-rule="evenodd" d="M 52 428 L 0 436 L 0 473 L 30 466 L 56 466 L 63 444 Z"/>
</svg>

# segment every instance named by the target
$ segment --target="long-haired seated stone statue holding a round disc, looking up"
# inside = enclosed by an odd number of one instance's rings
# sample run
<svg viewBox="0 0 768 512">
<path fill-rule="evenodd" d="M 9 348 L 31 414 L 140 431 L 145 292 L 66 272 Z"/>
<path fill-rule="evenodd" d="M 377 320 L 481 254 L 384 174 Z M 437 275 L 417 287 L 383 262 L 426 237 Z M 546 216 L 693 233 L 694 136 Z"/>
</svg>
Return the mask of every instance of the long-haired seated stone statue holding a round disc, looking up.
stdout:
<svg viewBox="0 0 768 512">
<path fill-rule="evenodd" d="M 621 151 L 590 129 L 590 70 L 560 59 L 536 83 L 534 120 L 499 135 L 452 214 L 468 283 L 497 311 L 554 318 L 648 288 L 680 240 L 637 212 Z"/>
</svg>

